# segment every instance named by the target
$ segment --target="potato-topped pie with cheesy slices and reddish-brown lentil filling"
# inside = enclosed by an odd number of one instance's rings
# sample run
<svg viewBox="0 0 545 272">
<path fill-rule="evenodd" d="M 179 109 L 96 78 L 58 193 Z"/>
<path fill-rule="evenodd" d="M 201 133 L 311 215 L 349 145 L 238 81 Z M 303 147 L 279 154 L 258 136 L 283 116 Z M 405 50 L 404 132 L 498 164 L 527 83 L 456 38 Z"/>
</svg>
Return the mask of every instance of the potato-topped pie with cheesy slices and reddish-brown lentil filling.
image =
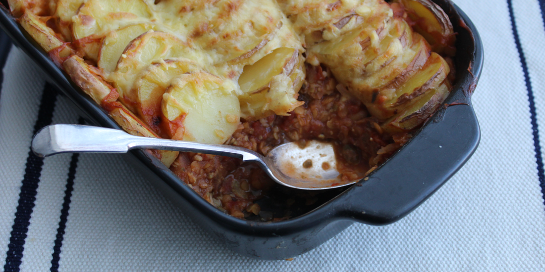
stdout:
<svg viewBox="0 0 545 272">
<path fill-rule="evenodd" d="M 429 0 L 8 2 L 125 131 L 262 154 L 332 141 L 346 180 L 402 146 L 455 76 L 455 33 Z M 152 152 L 234 217 L 260 214 L 273 184 L 238 159 Z"/>
</svg>

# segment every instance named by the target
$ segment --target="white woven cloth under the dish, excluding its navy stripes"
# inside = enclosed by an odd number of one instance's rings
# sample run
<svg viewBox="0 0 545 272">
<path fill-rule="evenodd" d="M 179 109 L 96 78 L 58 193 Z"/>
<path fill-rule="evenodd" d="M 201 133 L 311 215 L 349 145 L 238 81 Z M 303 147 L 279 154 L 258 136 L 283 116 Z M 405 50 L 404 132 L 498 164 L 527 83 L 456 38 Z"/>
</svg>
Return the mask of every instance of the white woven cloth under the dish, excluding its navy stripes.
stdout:
<svg viewBox="0 0 545 272">
<path fill-rule="evenodd" d="M 354 224 L 294 261 L 229 251 L 117 155 L 81 154 L 59 271 L 545 271 L 545 206 L 529 102 L 506 0 L 457 0 L 481 34 L 485 67 L 473 96 L 474 156 L 416 211 L 383 227 Z M 537 0 L 512 9 L 545 152 L 545 28 Z M 6 264 L 43 72 L 17 48 L 0 94 L 0 263 Z M 78 115 L 57 97 L 53 123 Z M 46 158 L 21 271 L 52 266 L 71 154 Z M 542 163 L 542 162 L 540 162 Z"/>
</svg>

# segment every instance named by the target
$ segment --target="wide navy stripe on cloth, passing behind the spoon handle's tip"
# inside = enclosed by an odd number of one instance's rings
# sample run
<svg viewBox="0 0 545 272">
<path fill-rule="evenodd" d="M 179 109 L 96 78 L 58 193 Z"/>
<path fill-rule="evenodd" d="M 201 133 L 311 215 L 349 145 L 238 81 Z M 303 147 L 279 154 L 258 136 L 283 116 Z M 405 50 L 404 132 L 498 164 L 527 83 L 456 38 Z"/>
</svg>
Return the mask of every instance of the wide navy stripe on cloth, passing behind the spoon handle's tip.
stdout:
<svg viewBox="0 0 545 272">
<path fill-rule="evenodd" d="M 41 96 L 38 120 L 34 125 L 34 133 L 38 132 L 40 128 L 51 124 L 56 100 L 57 92 L 54 91 L 51 84 L 46 83 Z M 25 175 L 19 193 L 19 203 L 17 204 L 15 220 L 9 238 L 8 252 L 5 258 L 4 271 L 6 272 L 19 271 L 43 165 L 43 158 L 36 156 L 32 150 L 28 152 Z"/>
</svg>

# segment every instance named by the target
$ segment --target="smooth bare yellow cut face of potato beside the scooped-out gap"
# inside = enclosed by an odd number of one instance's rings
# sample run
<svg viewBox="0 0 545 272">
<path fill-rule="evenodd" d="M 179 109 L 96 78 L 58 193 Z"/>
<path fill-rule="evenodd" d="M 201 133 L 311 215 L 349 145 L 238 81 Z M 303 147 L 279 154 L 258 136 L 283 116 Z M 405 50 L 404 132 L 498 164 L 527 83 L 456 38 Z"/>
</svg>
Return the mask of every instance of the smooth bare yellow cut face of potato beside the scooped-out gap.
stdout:
<svg viewBox="0 0 545 272">
<path fill-rule="evenodd" d="M 280 47 L 265 55 L 252 65 L 244 66 L 239 77 L 240 89 L 246 94 L 262 89 L 272 77 L 282 73 L 284 66 L 292 58 L 294 48 Z"/>
</svg>

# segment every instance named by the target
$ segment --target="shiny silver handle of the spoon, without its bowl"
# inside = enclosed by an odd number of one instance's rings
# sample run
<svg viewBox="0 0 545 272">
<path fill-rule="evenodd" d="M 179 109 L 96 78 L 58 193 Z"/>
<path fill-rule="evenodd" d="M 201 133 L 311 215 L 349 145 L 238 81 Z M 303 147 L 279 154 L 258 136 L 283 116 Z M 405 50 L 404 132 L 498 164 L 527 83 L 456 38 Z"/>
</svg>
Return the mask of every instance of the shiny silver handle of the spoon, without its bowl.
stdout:
<svg viewBox="0 0 545 272">
<path fill-rule="evenodd" d="M 245 162 L 263 162 L 261 154 L 243 147 L 138 137 L 119 129 L 93 126 L 46 126 L 32 139 L 32 151 L 39 157 L 72 152 L 126 153 L 131 149 L 196 152 L 239 158 Z"/>
</svg>

